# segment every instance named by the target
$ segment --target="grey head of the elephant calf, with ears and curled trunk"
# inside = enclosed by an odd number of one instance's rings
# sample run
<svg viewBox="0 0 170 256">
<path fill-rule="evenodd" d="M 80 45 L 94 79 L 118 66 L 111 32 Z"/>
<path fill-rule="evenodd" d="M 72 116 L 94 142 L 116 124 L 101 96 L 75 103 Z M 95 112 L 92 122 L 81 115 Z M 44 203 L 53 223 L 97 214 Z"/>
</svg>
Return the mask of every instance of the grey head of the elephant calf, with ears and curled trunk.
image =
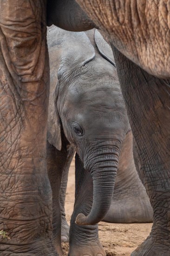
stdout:
<svg viewBox="0 0 170 256">
<path fill-rule="evenodd" d="M 64 131 L 93 178 L 93 205 L 78 224 L 99 222 L 110 207 L 118 158 L 129 127 L 114 58 L 98 30 L 48 30 L 48 141 L 61 149 Z"/>
</svg>

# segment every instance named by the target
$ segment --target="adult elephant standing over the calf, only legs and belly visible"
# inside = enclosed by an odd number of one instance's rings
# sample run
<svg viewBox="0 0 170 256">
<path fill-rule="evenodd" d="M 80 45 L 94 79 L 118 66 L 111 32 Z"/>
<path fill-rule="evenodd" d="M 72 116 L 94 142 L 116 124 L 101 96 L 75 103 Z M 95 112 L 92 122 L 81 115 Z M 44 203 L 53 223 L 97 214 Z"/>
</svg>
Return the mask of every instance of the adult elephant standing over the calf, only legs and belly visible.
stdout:
<svg viewBox="0 0 170 256">
<path fill-rule="evenodd" d="M 48 24 L 73 31 L 98 27 L 110 35 L 113 45 L 115 39 L 122 43 L 119 50 L 125 55 L 114 47 L 113 51 L 141 176 L 154 212 L 150 236 L 133 255 L 169 255 L 168 1 L 154 2 L 153 12 L 147 7 L 152 1 L 140 1 L 138 9 L 134 8 L 137 0 L 112 0 L 109 7 L 103 2 L 98 1 L 96 7 L 96 1 L 78 1 L 88 18 L 73 0 L 48 0 Z M 11 238 L 2 237 L 1 251 L 2 255 L 56 255 L 44 155 L 49 95 L 46 0 L 18 0 L 16 6 L 13 1 L 0 3 L 1 229 Z M 136 38 L 139 47 L 134 48 Z M 147 47 L 153 38 L 157 47 Z M 106 213 L 109 204 L 103 209 Z M 92 224 L 97 219 L 80 215 L 77 223 Z"/>
</svg>

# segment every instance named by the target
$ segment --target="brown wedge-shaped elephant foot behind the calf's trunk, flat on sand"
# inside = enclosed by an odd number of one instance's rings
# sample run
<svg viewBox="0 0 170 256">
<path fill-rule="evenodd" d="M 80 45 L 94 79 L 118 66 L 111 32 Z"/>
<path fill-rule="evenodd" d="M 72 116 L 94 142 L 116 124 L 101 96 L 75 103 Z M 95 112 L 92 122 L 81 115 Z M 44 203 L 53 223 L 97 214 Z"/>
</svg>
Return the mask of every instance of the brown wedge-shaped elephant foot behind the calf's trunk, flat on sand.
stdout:
<svg viewBox="0 0 170 256">
<path fill-rule="evenodd" d="M 122 143 L 118 173 L 110 209 L 104 221 L 152 222 L 153 211 L 133 159 L 133 137 L 129 131 Z"/>
</svg>

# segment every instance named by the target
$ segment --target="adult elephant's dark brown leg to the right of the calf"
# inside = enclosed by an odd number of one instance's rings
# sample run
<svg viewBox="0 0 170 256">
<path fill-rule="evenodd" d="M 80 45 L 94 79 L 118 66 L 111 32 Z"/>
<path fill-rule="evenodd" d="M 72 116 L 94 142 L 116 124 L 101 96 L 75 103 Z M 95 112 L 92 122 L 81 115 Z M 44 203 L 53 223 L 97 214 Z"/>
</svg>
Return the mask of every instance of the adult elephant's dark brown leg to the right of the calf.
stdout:
<svg viewBox="0 0 170 256">
<path fill-rule="evenodd" d="M 170 255 L 170 82 L 129 61 L 113 47 L 135 138 L 139 167 L 153 208 L 150 236 L 133 256 Z"/>
</svg>

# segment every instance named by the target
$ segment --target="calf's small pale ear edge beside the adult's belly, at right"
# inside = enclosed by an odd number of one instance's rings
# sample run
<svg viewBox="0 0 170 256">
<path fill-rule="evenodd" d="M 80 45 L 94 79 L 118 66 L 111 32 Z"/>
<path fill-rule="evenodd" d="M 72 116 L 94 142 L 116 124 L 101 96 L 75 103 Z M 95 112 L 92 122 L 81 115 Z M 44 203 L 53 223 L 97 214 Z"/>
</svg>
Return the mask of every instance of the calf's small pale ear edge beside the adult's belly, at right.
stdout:
<svg viewBox="0 0 170 256">
<path fill-rule="evenodd" d="M 98 50 L 100 54 L 109 61 L 114 67 L 116 67 L 113 52 L 111 50 L 110 45 L 105 41 L 103 36 L 99 33 L 98 29 L 96 29 L 94 34 L 94 40 L 96 43 L 96 46 L 98 47 Z"/>
</svg>

